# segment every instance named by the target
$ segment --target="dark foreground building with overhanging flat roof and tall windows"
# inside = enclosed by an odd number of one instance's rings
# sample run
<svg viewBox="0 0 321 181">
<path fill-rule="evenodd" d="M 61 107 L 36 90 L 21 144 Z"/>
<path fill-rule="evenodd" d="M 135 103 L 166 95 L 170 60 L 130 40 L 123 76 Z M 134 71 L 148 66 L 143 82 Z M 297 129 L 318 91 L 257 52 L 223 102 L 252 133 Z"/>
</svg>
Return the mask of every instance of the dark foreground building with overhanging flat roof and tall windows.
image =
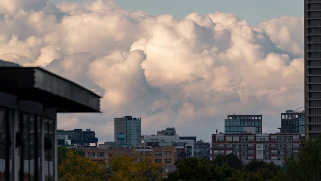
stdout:
<svg viewBox="0 0 321 181">
<path fill-rule="evenodd" d="M 57 113 L 100 112 L 100 97 L 39 67 L 0 66 L 0 180 L 57 180 Z"/>
</svg>

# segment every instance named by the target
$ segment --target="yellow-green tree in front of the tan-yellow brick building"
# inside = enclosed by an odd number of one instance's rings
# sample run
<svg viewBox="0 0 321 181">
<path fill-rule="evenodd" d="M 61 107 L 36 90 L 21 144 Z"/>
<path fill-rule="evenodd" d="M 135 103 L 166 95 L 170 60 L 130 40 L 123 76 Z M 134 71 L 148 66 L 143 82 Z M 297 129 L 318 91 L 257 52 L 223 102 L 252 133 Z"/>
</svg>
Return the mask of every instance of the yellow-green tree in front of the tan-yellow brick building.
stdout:
<svg viewBox="0 0 321 181">
<path fill-rule="evenodd" d="M 109 160 L 112 176 L 108 180 L 161 180 L 163 165 L 153 162 L 153 156 L 136 152 L 112 156 Z"/>
</svg>

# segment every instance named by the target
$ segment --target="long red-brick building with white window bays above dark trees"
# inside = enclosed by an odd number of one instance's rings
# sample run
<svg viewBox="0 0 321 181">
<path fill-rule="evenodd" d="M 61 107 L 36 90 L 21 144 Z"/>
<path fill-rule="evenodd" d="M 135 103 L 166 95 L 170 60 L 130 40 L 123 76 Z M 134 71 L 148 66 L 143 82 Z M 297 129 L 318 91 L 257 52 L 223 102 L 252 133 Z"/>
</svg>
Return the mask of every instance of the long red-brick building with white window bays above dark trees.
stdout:
<svg viewBox="0 0 321 181">
<path fill-rule="evenodd" d="M 212 134 L 212 160 L 234 153 L 246 164 L 252 160 L 284 165 L 291 155 L 297 159 L 302 134 Z"/>
</svg>

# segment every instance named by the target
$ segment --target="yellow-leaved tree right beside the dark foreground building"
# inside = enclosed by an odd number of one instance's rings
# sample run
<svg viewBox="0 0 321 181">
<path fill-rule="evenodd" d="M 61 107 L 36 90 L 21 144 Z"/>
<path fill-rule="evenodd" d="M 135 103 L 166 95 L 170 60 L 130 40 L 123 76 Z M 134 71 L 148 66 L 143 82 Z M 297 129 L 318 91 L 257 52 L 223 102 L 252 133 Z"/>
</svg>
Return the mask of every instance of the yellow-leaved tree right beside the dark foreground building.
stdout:
<svg viewBox="0 0 321 181">
<path fill-rule="evenodd" d="M 106 166 L 104 162 L 92 161 L 81 155 L 79 150 L 61 149 L 61 155 L 65 152 L 65 158 L 58 166 L 58 179 L 65 180 L 104 180 L 106 178 Z"/>
</svg>

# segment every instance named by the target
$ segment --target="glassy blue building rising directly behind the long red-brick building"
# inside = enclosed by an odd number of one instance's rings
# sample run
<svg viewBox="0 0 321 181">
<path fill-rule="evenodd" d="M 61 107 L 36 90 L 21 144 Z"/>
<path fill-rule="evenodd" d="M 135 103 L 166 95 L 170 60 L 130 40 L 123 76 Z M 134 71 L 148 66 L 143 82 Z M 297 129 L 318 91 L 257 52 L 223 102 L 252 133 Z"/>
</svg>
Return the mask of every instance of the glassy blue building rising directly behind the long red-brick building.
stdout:
<svg viewBox="0 0 321 181">
<path fill-rule="evenodd" d="M 250 128 L 262 133 L 262 115 L 228 115 L 224 120 L 225 134 L 240 134 Z"/>
</svg>

